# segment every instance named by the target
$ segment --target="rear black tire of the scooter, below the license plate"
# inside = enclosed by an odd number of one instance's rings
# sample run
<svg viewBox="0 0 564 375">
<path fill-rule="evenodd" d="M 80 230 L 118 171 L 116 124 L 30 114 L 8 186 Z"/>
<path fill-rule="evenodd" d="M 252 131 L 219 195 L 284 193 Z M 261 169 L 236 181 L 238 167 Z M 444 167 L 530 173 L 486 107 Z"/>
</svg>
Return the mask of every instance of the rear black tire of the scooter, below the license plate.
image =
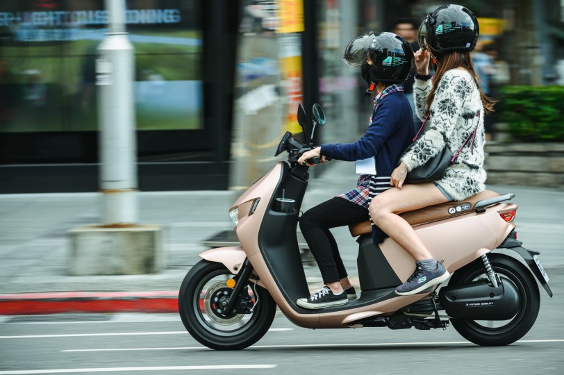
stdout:
<svg viewBox="0 0 564 375">
<path fill-rule="evenodd" d="M 489 254 L 488 258 L 501 282 L 513 283 L 517 289 L 517 314 L 504 321 L 451 319 L 451 324 L 463 338 L 474 344 L 489 347 L 508 345 L 522 338 L 535 324 L 540 308 L 540 294 L 536 280 L 522 263 L 499 254 Z M 481 258 L 454 272 L 449 285 L 460 285 L 480 278 L 486 278 Z"/>
</svg>

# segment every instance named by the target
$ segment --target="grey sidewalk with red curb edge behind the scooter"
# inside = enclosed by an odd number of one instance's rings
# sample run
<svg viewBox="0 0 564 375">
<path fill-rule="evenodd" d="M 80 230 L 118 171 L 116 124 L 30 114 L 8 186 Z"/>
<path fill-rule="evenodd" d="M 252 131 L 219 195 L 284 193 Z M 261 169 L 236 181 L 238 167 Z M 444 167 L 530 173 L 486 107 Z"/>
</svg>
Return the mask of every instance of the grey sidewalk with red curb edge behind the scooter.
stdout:
<svg viewBox="0 0 564 375">
<path fill-rule="evenodd" d="M 335 162 L 312 178 L 302 210 L 354 187 L 352 163 Z M 545 267 L 564 265 L 564 192 L 488 186 L 513 192 L 519 239 L 541 251 Z M 167 267 L 158 274 L 67 276 L 67 232 L 101 222 L 98 193 L 0 195 L 0 315 L 83 312 L 173 312 L 186 272 L 199 261 L 201 244 L 233 228 L 227 210 L 235 194 L 225 191 L 140 192 L 140 224 L 163 224 Z M 357 244 L 347 228 L 333 231 L 351 278 Z M 321 284 L 317 266 L 304 265 L 308 283 Z"/>
</svg>

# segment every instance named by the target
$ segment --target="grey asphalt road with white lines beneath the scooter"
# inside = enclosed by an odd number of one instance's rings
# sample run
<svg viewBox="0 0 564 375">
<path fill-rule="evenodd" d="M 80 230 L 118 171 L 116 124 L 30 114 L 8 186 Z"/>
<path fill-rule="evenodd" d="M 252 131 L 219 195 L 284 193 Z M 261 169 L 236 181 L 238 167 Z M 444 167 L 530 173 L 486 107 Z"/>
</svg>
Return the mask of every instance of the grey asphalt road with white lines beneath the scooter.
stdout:
<svg viewBox="0 0 564 375">
<path fill-rule="evenodd" d="M 478 347 L 446 331 L 308 330 L 279 314 L 243 351 L 213 351 L 177 315 L 0 317 L 5 374 L 564 374 L 564 267 L 547 267 L 538 320 L 507 347 Z"/>
</svg>

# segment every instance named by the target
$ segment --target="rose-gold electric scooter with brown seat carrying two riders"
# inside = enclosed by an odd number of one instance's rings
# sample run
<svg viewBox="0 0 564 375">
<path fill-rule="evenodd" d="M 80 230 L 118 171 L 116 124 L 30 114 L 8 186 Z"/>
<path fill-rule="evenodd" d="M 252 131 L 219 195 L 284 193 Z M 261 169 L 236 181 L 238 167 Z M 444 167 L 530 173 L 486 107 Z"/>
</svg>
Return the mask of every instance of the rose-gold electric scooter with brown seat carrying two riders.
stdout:
<svg viewBox="0 0 564 375">
<path fill-rule="evenodd" d="M 278 307 L 305 328 L 429 330 L 451 324 L 479 345 L 522 338 L 540 308 L 537 281 L 552 297 L 549 277 L 538 251 L 517 240 L 517 205 L 508 202 L 514 195 L 488 190 L 402 214 L 452 274 L 447 282 L 410 296 L 395 294 L 413 272 L 414 260 L 391 238 L 374 244 L 370 222 L 365 222 L 349 226 L 359 244 L 360 297 L 321 310 L 297 305 L 297 299 L 310 295 L 297 241 L 308 166 L 297 160 L 313 148 L 316 126 L 326 122 L 321 106 L 315 104 L 312 112 L 311 136 L 301 142 L 286 132 L 275 156 L 286 152 L 288 159 L 276 163 L 229 209 L 241 246 L 204 251 L 186 274 L 179 313 L 192 337 L 211 349 L 244 349 L 265 335 Z M 301 104 L 298 122 L 306 135 Z"/>
</svg>

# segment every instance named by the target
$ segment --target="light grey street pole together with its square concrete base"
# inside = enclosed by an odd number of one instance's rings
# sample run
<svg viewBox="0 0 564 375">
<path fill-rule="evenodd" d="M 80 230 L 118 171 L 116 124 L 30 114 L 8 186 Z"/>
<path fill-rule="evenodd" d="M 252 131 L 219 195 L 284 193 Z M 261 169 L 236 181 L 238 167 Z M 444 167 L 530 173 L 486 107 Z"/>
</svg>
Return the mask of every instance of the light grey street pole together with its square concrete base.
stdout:
<svg viewBox="0 0 564 375">
<path fill-rule="evenodd" d="M 138 224 L 133 45 L 125 0 L 106 0 L 108 32 L 98 47 L 100 190 L 103 223 L 69 232 L 72 275 L 151 274 L 165 267 L 163 226 Z"/>
</svg>

